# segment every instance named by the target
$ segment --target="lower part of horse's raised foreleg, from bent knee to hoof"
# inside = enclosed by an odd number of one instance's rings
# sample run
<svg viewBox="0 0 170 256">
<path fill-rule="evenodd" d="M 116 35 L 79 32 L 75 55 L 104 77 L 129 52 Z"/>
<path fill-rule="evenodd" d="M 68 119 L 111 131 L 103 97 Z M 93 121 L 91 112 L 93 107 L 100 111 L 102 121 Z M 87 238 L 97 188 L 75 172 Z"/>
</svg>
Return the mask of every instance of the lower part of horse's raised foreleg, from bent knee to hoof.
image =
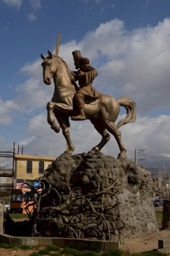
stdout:
<svg viewBox="0 0 170 256">
<path fill-rule="evenodd" d="M 53 113 L 54 107 L 55 102 L 47 103 L 47 122 L 51 125 L 52 130 L 54 130 L 56 133 L 59 133 L 60 125 L 58 123 L 55 123 L 55 116 Z"/>
</svg>

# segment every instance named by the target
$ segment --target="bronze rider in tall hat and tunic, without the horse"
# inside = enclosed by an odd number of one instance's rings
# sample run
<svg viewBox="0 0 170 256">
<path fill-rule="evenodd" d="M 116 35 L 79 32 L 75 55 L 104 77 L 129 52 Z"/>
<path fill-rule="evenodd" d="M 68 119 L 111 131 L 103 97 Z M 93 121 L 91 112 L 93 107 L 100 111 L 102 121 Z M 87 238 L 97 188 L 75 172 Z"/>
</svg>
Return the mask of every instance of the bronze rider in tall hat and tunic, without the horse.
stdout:
<svg viewBox="0 0 170 256">
<path fill-rule="evenodd" d="M 73 71 L 75 81 L 79 81 L 79 90 L 75 94 L 74 98 L 76 100 L 76 105 L 78 108 L 78 115 L 72 116 L 72 120 L 85 120 L 84 105 L 85 99 L 98 98 L 101 93 L 97 92 L 94 87 L 92 87 L 92 82 L 97 76 L 97 70 L 89 65 L 90 60 L 84 58 L 79 50 L 72 52 L 74 58 L 74 65 L 78 71 Z"/>
</svg>

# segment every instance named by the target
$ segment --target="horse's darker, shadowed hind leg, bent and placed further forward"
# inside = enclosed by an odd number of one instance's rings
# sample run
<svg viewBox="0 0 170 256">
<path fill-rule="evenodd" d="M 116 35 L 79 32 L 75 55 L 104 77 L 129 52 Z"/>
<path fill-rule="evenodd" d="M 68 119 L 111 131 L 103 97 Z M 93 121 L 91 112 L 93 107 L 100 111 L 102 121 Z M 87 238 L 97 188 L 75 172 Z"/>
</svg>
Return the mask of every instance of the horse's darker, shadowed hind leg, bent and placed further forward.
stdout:
<svg viewBox="0 0 170 256">
<path fill-rule="evenodd" d="M 107 133 L 105 127 L 102 123 L 100 123 L 98 118 L 93 118 L 90 121 L 94 125 L 94 128 L 97 130 L 97 132 L 100 133 L 100 135 L 102 136 L 101 142 L 97 146 L 92 148 L 90 152 L 99 152 L 104 147 L 104 145 L 106 145 L 106 143 L 109 141 L 110 135 L 109 133 Z"/>
</svg>

